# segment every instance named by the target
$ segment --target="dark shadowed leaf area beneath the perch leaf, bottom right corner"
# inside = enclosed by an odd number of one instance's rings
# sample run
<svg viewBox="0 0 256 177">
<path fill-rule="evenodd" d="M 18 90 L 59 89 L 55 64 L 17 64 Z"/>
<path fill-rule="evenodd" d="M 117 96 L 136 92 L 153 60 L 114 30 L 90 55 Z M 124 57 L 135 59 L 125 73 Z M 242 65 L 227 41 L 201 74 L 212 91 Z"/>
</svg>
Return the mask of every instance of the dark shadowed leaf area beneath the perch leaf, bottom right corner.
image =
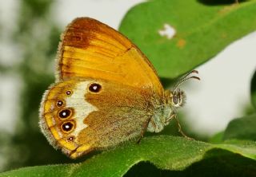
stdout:
<svg viewBox="0 0 256 177">
<path fill-rule="evenodd" d="M 241 155 L 214 149 L 208 151 L 205 159 L 192 164 L 184 171 L 167 171 L 151 163 L 138 163 L 126 173 L 128 176 L 254 176 L 256 162 Z"/>
</svg>

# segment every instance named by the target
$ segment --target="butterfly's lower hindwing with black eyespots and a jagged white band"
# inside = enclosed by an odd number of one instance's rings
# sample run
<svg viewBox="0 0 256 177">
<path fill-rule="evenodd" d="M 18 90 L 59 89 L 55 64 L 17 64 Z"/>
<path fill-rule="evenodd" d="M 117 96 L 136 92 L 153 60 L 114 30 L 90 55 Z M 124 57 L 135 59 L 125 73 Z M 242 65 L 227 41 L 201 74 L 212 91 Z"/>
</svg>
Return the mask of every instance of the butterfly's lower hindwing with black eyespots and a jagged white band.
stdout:
<svg viewBox="0 0 256 177">
<path fill-rule="evenodd" d="M 108 148 L 140 136 L 153 112 L 149 98 L 150 92 L 114 82 L 64 81 L 42 101 L 42 132 L 71 158 Z"/>
</svg>

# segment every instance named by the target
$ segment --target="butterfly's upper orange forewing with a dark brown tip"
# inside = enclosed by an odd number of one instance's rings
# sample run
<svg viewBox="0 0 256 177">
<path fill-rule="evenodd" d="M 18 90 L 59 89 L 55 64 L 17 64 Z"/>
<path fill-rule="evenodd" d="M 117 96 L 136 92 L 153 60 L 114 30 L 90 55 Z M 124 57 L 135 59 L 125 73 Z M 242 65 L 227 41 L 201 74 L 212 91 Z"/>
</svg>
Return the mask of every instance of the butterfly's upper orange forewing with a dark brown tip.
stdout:
<svg viewBox="0 0 256 177">
<path fill-rule="evenodd" d="M 58 81 L 95 78 L 163 94 L 150 61 L 118 31 L 91 18 L 77 18 L 58 49 Z"/>
</svg>

